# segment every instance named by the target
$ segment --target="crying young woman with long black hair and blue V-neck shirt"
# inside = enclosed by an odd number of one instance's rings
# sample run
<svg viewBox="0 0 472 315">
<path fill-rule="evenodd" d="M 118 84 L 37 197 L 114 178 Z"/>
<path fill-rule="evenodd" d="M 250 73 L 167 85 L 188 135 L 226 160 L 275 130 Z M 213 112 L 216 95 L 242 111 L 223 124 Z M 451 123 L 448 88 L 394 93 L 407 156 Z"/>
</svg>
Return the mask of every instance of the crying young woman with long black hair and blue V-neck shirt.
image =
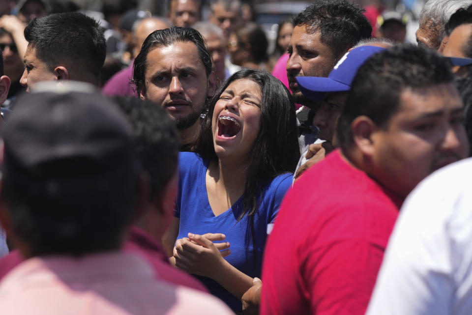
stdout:
<svg viewBox="0 0 472 315">
<path fill-rule="evenodd" d="M 267 233 L 299 156 L 290 92 L 252 69 L 219 87 L 195 153 L 180 154 L 176 217 L 164 243 L 173 248 L 171 263 L 197 275 L 235 312 L 261 276 Z"/>
</svg>

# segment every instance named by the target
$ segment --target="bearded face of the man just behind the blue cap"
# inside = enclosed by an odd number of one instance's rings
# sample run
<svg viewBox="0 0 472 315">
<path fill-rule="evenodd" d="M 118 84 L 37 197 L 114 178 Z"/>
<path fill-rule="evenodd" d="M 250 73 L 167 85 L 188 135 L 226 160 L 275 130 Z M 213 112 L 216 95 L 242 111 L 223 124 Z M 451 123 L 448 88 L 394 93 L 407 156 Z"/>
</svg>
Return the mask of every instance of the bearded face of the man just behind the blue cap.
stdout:
<svg viewBox="0 0 472 315">
<path fill-rule="evenodd" d="M 304 25 L 295 26 L 287 49 L 287 77 L 295 101 L 303 101 L 295 77 L 327 77 L 336 61 L 331 49 L 321 42 L 321 31 L 310 32 Z M 299 102 L 300 103 L 300 102 Z M 303 104 L 303 103 L 300 103 Z"/>
</svg>

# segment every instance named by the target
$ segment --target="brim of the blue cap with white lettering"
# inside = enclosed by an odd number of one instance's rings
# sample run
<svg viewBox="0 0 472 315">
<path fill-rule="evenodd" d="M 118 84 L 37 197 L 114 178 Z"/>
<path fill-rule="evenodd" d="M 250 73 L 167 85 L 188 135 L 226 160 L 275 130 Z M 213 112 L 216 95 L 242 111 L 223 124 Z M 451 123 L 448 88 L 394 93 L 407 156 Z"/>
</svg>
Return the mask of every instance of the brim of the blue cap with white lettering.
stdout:
<svg viewBox="0 0 472 315">
<path fill-rule="evenodd" d="M 324 77 L 296 77 L 298 88 L 311 100 L 322 101 L 328 92 L 349 91 L 351 86 Z"/>
</svg>

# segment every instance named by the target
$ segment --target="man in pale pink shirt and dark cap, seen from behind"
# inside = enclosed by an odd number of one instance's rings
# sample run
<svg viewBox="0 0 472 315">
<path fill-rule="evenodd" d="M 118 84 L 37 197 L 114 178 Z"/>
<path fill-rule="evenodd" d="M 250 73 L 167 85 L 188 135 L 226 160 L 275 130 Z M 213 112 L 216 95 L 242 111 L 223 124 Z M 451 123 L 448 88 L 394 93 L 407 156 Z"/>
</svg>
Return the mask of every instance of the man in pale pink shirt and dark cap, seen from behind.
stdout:
<svg viewBox="0 0 472 315">
<path fill-rule="evenodd" d="M 1 314 L 231 314 L 120 251 L 149 198 L 132 130 L 87 84 L 42 83 L 18 99 L 3 130 L 0 222 L 26 260 L 0 282 Z M 160 188 L 164 212 L 175 178 Z"/>
</svg>

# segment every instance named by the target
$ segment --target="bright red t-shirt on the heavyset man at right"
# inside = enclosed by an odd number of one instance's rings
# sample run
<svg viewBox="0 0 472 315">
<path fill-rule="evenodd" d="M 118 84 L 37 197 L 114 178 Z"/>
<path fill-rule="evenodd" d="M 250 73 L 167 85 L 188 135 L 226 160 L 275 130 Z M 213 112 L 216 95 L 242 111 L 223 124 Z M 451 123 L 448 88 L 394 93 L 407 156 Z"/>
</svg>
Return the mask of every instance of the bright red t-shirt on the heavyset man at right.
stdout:
<svg viewBox="0 0 472 315">
<path fill-rule="evenodd" d="M 364 315 L 402 202 L 339 150 L 310 168 L 268 238 L 261 315 Z"/>
</svg>

